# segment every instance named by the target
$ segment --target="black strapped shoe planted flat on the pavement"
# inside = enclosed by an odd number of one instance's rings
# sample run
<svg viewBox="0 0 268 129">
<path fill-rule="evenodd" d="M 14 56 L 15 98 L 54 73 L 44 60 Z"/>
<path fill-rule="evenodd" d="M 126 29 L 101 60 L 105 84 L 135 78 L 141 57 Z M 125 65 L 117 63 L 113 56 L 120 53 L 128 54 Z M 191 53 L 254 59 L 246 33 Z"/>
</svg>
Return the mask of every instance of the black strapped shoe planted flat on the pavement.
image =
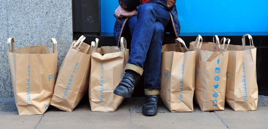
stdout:
<svg viewBox="0 0 268 129">
<path fill-rule="evenodd" d="M 154 116 L 157 114 L 159 95 L 146 95 L 142 106 L 142 114 Z"/>
</svg>

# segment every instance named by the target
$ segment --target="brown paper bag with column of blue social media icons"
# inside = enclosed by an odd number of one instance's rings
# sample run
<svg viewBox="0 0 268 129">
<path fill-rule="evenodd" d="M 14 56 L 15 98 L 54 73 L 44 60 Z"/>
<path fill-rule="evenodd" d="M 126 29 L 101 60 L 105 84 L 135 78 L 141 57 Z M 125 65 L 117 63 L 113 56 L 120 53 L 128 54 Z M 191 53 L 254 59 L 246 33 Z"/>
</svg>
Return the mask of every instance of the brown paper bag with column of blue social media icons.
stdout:
<svg viewBox="0 0 268 129">
<path fill-rule="evenodd" d="M 216 43 L 203 42 L 198 35 L 190 43 L 196 49 L 194 98 L 202 111 L 224 110 L 228 52 L 219 48 L 218 36 L 215 38 Z"/>
</svg>

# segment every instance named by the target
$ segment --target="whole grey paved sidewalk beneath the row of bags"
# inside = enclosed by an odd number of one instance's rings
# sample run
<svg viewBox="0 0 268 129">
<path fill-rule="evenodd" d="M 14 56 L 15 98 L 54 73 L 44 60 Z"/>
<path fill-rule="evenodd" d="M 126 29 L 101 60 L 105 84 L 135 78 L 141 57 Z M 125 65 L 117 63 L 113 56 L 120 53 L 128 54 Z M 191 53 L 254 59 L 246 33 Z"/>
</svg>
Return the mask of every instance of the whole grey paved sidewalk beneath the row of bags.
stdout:
<svg viewBox="0 0 268 129">
<path fill-rule="evenodd" d="M 85 99 L 86 100 L 86 99 Z M 143 97 L 126 99 L 113 113 L 91 112 L 83 101 L 73 112 L 50 106 L 43 115 L 19 116 L 14 98 L 0 98 L 0 128 L 268 128 L 268 97 L 259 95 L 256 111 L 235 112 L 227 105 L 224 111 L 202 112 L 194 105 L 191 113 L 170 113 L 160 103 L 156 116 L 143 116 Z"/>
</svg>

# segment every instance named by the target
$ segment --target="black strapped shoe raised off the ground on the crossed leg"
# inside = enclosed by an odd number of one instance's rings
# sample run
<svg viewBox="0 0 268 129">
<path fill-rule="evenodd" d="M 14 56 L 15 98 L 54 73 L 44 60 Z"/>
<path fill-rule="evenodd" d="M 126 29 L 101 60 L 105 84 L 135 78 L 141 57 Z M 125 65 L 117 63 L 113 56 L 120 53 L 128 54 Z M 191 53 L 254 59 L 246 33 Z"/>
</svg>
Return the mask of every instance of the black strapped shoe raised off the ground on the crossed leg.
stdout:
<svg viewBox="0 0 268 129">
<path fill-rule="evenodd" d="M 137 76 L 132 75 L 131 73 L 125 73 L 125 76 L 123 76 L 123 79 L 115 88 L 114 94 L 125 98 L 130 98 L 134 91 L 136 81 Z"/>
</svg>

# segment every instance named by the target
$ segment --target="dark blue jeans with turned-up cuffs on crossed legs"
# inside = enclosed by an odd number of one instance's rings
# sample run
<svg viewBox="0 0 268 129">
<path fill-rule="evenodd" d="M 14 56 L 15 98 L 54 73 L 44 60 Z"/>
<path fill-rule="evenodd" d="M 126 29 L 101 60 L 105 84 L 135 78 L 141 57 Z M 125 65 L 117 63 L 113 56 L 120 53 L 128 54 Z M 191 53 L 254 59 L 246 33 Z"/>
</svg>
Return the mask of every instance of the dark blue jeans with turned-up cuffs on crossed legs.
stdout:
<svg viewBox="0 0 268 129">
<path fill-rule="evenodd" d="M 145 94 L 147 89 L 160 89 L 161 49 L 169 12 L 149 2 L 141 4 L 137 15 L 129 18 L 128 30 L 131 52 L 126 70 L 144 74 Z"/>
</svg>

